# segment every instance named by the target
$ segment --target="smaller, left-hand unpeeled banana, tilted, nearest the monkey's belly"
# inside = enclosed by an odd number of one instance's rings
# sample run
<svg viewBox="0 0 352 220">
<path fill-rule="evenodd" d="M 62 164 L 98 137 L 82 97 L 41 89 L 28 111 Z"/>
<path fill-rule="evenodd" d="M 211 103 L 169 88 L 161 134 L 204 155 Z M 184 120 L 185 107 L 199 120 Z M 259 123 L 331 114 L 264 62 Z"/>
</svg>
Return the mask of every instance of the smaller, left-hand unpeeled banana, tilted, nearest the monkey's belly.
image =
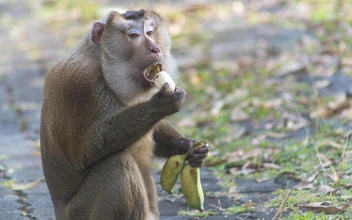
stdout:
<svg viewBox="0 0 352 220">
<path fill-rule="evenodd" d="M 174 155 L 170 157 L 163 166 L 160 174 L 161 188 L 170 195 L 173 193 L 173 187 L 177 181 L 178 175 L 181 173 L 188 153 Z"/>
</svg>

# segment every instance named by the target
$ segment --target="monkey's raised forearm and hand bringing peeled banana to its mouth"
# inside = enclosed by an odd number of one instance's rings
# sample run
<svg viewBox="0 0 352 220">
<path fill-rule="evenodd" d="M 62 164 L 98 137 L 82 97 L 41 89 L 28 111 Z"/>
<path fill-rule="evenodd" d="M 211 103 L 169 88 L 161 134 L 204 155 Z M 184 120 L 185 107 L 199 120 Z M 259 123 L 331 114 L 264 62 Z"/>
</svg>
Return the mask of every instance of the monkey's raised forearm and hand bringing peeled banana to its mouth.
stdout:
<svg viewBox="0 0 352 220">
<path fill-rule="evenodd" d="M 85 133 L 85 138 L 72 138 L 64 151 L 77 169 L 85 169 L 104 157 L 123 151 L 146 135 L 154 125 L 181 108 L 185 92 L 173 93 L 163 86 L 149 101 L 119 110 L 109 118 L 96 120 Z M 79 120 L 79 119 L 76 119 Z M 78 123 L 75 123 L 78 124 Z M 77 127 L 75 130 L 81 130 Z"/>
</svg>

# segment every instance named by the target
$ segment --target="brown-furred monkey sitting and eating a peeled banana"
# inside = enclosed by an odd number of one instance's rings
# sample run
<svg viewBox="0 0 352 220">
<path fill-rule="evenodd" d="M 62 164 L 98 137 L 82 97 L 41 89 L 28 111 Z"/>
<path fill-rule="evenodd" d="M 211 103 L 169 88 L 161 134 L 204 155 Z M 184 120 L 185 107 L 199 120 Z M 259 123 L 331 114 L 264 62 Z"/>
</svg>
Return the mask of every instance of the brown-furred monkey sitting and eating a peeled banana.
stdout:
<svg viewBox="0 0 352 220">
<path fill-rule="evenodd" d="M 167 23 L 152 10 L 107 16 L 44 79 L 40 145 L 56 219 L 159 219 L 153 156 L 189 153 L 200 167 L 209 146 L 178 132 L 168 117 L 186 92 L 160 89 L 150 67 L 174 79 Z"/>
</svg>

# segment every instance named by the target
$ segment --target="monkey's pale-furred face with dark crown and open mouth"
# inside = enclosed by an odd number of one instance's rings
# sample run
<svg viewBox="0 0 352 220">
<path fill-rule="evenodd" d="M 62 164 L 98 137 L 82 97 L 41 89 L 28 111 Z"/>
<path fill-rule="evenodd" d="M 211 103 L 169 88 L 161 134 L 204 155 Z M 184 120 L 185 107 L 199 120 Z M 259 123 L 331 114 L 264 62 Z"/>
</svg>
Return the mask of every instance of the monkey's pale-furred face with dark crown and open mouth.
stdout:
<svg viewBox="0 0 352 220">
<path fill-rule="evenodd" d="M 170 48 L 162 39 L 165 34 L 160 34 L 160 31 L 167 31 L 163 25 L 161 18 L 153 12 L 111 12 L 106 24 L 99 23 L 101 28 L 96 28 L 103 66 L 113 67 L 117 78 L 128 79 L 144 89 L 152 88 L 157 73 L 163 70 L 163 53 L 168 53 Z M 102 29 L 100 35 L 99 29 Z M 93 42 L 94 36 L 93 26 Z"/>
</svg>

